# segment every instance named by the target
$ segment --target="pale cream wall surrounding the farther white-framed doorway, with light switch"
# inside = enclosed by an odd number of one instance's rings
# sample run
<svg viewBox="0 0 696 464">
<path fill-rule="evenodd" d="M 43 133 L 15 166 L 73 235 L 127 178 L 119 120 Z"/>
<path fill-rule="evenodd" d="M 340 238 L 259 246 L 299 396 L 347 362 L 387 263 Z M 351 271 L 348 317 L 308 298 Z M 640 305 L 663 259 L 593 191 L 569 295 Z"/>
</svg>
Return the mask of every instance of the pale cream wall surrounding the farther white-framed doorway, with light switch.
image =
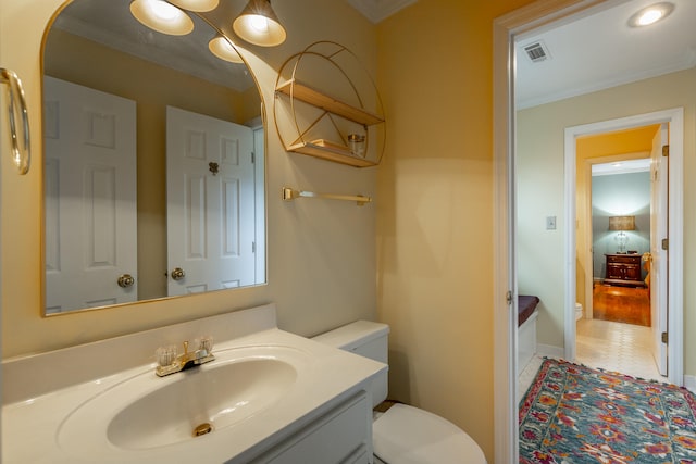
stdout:
<svg viewBox="0 0 696 464">
<path fill-rule="evenodd" d="M 696 374 L 694 318 L 696 289 L 688 263 L 696 259 L 696 192 L 689 178 L 696 176 L 696 68 L 672 73 L 612 89 L 520 111 L 518 113 L 519 211 L 529 221 L 548 211 L 562 211 L 563 130 L 599 121 L 684 108 L 684 374 Z M 559 214 L 558 224 L 563 224 Z M 538 319 L 538 341 L 563 346 L 562 226 L 543 242 L 524 224 L 519 227 L 520 283 L 540 293 L 546 311 Z M 531 263 L 554 254 L 544 266 Z"/>
</svg>

